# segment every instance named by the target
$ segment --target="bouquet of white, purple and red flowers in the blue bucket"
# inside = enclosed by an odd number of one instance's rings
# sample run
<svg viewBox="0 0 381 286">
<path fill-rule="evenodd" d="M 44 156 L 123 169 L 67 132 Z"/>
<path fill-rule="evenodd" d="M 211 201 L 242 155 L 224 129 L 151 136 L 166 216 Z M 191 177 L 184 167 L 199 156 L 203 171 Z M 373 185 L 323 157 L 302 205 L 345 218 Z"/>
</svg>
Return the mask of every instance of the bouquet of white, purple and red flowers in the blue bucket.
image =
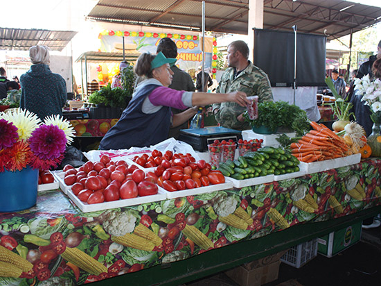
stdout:
<svg viewBox="0 0 381 286">
<path fill-rule="evenodd" d="M 27 166 L 46 171 L 64 158 L 74 135 L 69 121 L 59 115 L 42 123 L 37 115 L 20 108 L 0 114 L 0 172 Z"/>
</svg>

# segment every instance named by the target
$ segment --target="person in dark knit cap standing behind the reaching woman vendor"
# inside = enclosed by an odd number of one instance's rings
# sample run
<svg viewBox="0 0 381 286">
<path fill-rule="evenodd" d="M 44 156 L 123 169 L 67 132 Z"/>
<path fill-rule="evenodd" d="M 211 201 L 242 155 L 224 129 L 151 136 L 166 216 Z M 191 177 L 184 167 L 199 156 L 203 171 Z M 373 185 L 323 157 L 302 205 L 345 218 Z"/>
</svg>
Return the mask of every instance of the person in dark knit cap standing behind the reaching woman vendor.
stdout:
<svg viewBox="0 0 381 286">
<path fill-rule="evenodd" d="M 163 37 L 157 45 L 156 52 L 163 53 L 163 55 L 166 56 L 166 58 L 177 58 L 176 43 L 173 42 L 169 37 Z M 170 69 L 173 72 L 173 76 L 172 83 L 168 86 L 169 88 L 172 88 L 173 90 L 184 90 L 186 92 L 195 91 L 195 85 L 193 84 L 192 78 L 187 72 L 182 71 L 175 65 L 172 65 Z M 171 110 L 174 114 L 181 113 L 184 111 L 177 108 L 171 108 Z M 177 139 L 180 135 L 180 130 L 186 128 L 188 128 L 188 121 L 184 122 L 183 124 L 177 127 L 171 127 L 168 133 L 168 138 L 174 137 L 175 139 Z"/>
</svg>

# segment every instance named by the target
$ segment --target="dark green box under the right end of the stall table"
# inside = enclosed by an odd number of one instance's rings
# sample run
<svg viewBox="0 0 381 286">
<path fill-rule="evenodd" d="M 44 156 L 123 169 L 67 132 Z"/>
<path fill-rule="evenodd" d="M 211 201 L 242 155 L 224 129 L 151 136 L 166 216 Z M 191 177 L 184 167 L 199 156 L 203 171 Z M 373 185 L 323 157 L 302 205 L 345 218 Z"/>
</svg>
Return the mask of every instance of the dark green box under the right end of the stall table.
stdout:
<svg viewBox="0 0 381 286">
<path fill-rule="evenodd" d="M 360 241 L 362 222 L 336 230 L 333 233 L 319 237 L 318 252 L 328 258 L 333 257 L 337 253 L 348 249 L 353 244 Z"/>
</svg>

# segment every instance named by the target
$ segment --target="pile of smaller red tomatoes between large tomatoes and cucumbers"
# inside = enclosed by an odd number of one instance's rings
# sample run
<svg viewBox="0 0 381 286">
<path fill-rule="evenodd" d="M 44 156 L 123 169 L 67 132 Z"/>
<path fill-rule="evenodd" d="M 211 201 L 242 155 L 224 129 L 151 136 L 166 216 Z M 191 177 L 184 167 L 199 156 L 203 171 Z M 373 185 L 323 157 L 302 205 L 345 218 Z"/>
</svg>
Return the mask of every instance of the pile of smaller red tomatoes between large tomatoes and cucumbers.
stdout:
<svg viewBox="0 0 381 286">
<path fill-rule="evenodd" d="M 172 151 L 166 151 L 164 155 L 161 155 L 160 151 L 152 151 L 152 157 L 160 158 L 161 162 L 154 172 L 147 174 L 156 175 L 157 185 L 168 192 L 225 183 L 224 175 L 220 171 L 212 170 L 211 165 L 205 160 L 196 162 L 189 153 L 173 154 Z"/>
</svg>

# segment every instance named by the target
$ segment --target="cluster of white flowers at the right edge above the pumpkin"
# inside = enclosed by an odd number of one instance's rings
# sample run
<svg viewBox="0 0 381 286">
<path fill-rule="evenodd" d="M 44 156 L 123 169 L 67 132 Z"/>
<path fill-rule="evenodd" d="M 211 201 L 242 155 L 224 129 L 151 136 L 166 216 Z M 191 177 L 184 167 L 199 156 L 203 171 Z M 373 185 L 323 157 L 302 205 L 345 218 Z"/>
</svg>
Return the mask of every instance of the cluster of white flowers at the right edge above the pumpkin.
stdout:
<svg viewBox="0 0 381 286">
<path fill-rule="evenodd" d="M 361 101 L 370 107 L 373 122 L 381 122 L 381 81 L 376 78 L 371 81 L 369 74 L 355 79 L 355 90 L 362 94 Z"/>
</svg>

